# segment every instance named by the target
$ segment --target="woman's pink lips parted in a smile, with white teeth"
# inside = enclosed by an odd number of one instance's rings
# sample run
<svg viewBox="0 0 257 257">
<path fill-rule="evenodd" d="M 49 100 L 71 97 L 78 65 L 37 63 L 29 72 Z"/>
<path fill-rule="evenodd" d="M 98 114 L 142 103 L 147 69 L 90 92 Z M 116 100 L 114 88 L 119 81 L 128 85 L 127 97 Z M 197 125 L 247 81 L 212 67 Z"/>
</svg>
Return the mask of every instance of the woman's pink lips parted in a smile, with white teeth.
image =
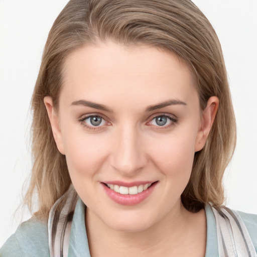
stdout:
<svg viewBox="0 0 257 257">
<path fill-rule="evenodd" d="M 135 205 L 144 201 L 153 192 L 158 181 L 122 183 L 102 182 L 104 191 L 114 202 L 122 205 Z"/>
</svg>

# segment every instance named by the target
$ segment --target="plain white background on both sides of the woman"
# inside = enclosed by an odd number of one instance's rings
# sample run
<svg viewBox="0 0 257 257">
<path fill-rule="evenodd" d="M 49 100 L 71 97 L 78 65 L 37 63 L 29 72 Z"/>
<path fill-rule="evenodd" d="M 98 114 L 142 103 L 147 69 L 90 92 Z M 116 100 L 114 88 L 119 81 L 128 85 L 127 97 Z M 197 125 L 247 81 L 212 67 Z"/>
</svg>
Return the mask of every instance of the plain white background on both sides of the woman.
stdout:
<svg viewBox="0 0 257 257">
<path fill-rule="evenodd" d="M 257 1 L 194 0 L 220 39 L 238 141 L 224 184 L 227 206 L 257 214 Z M 0 0 L 0 246 L 31 170 L 30 99 L 48 32 L 67 0 Z M 242 5 L 243 3 L 243 5 Z M 24 213 L 23 220 L 30 216 Z"/>
</svg>

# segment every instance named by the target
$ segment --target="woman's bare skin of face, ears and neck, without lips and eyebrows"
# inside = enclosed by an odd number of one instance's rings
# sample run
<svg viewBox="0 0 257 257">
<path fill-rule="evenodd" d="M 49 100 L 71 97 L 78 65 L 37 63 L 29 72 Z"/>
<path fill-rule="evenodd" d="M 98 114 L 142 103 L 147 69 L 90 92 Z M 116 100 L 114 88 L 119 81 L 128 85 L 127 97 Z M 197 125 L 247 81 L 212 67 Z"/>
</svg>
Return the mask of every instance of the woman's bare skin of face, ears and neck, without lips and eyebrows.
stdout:
<svg viewBox="0 0 257 257">
<path fill-rule="evenodd" d="M 204 256 L 205 212 L 188 212 L 180 196 L 194 153 L 209 134 L 217 97 L 201 110 L 187 64 L 148 46 L 86 46 L 67 58 L 63 72 L 58 111 L 51 97 L 44 100 L 57 147 L 87 206 L 91 255 Z M 171 99 L 183 104 L 146 110 Z M 80 100 L 108 110 L 79 104 Z M 101 116 L 102 123 L 93 126 L 86 115 Z M 156 116 L 162 115 L 171 118 L 164 126 L 156 123 Z M 101 182 L 113 180 L 158 183 L 143 202 L 126 206 L 103 190 Z"/>
</svg>

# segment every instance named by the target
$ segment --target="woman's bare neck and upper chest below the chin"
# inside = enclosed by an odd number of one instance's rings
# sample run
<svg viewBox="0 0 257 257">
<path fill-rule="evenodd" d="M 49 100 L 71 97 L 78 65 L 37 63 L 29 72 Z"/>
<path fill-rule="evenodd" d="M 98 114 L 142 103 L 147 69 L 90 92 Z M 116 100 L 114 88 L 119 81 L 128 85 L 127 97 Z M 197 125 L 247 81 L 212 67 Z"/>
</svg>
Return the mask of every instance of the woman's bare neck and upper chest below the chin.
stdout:
<svg viewBox="0 0 257 257">
<path fill-rule="evenodd" d="M 196 236 L 203 241 L 204 256 L 206 223 L 203 222 L 203 215 L 205 221 L 204 210 L 198 215 L 193 214 L 179 201 L 168 215 L 145 230 L 119 231 L 107 226 L 87 209 L 85 222 L 91 256 L 138 256 L 139 252 L 141 256 L 148 257 L 185 256 L 185 246 L 194 245 L 192 239 Z M 199 226 L 203 228 L 199 229 Z M 198 231 L 198 235 L 195 231 Z M 197 247 L 199 254 L 199 245 Z"/>
</svg>

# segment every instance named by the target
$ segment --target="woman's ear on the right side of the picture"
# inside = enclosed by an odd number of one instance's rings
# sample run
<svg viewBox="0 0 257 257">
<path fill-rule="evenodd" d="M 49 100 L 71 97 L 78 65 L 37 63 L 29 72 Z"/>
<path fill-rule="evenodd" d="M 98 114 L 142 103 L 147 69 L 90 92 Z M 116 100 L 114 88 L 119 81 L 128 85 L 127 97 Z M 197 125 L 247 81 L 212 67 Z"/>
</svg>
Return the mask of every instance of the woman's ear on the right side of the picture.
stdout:
<svg viewBox="0 0 257 257">
<path fill-rule="evenodd" d="M 215 119 L 217 110 L 219 106 L 219 99 L 216 96 L 212 96 L 209 98 L 205 109 L 202 112 L 201 122 L 199 131 L 197 133 L 196 141 L 195 141 L 195 152 L 198 152 L 203 149 L 209 132 L 211 130 L 211 126 Z"/>
</svg>

